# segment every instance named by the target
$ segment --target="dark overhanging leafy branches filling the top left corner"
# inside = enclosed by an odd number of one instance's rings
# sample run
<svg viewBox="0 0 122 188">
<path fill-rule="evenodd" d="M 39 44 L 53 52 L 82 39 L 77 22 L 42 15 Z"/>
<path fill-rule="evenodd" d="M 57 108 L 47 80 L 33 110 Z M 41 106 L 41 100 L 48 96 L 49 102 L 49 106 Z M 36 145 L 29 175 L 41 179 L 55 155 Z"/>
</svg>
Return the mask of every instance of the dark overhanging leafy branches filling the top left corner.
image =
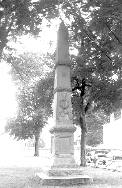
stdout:
<svg viewBox="0 0 122 188">
<path fill-rule="evenodd" d="M 37 36 L 44 18 L 56 16 L 57 1 L 1 0 L 0 1 L 0 57 L 4 49 L 12 50 L 9 42 L 21 35 Z M 49 23 L 48 23 L 49 25 Z M 4 51 L 4 53 L 3 53 Z"/>
</svg>

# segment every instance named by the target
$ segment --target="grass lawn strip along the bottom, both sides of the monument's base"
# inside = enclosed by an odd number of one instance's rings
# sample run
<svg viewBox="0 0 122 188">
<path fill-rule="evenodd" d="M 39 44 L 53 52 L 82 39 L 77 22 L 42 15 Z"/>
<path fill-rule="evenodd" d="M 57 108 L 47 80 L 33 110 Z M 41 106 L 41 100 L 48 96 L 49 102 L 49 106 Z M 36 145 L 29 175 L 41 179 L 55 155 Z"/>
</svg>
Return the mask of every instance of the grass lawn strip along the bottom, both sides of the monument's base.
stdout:
<svg viewBox="0 0 122 188">
<path fill-rule="evenodd" d="M 0 188 L 39 188 L 38 183 L 33 181 L 34 174 L 39 171 L 39 168 L 27 167 L 0 168 Z M 84 168 L 83 171 L 94 181 L 91 185 L 74 186 L 75 188 L 122 188 L 121 172 L 90 167 Z"/>
</svg>

